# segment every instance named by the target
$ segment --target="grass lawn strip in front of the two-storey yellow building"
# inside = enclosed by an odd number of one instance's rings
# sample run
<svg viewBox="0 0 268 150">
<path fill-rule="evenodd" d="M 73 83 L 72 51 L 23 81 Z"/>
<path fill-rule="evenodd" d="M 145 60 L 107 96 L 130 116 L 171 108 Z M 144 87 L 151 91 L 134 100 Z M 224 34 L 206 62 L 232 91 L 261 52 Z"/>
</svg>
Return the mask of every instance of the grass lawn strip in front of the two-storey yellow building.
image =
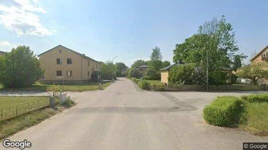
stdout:
<svg viewBox="0 0 268 150">
<path fill-rule="evenodd" d="M 101 81 L 102 89 L 109 86 L 111 81 Z M 53 89 L 60 90 L 62 84 L 43 84 L 37 82 L 31 87 L 22 87 L 22 88 L 5 88 L 3 84 L 0 84 L 0 90 L 45 90 L 52 91 Z M 98 89 L 98 82 L 86 82 L 86 83 L 69 83 L 64 84 L 64 91 L 85 91 L 85 90 L 96 90 Z"/>
</svg>

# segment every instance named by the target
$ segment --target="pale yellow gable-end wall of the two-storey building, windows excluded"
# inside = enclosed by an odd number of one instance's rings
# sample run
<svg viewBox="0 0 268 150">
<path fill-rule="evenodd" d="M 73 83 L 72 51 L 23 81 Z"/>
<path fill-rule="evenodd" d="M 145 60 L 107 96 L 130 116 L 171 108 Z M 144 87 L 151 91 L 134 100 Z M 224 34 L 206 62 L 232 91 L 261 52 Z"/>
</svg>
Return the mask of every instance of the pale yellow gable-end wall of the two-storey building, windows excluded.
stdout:
<svg viewBox="0 0 268 150">
<path fill-rule="evenodd" d="M 62 58 L 61 64 L 57 64 L 57 58 Z M 67 64 L 67 58 L 72 58 L 72 64 Z M 59 46 L 40 55 L 39 59 L 41 68 L 45 69 L 44 80 L 62 80 L 56 77 L 57 70 L 62 70 L 64 80 L 81 80 L 81 56 L 79 54 Z M 67 76 L 67 70 L 72 71 L 72 76 Z"/>
</svg>

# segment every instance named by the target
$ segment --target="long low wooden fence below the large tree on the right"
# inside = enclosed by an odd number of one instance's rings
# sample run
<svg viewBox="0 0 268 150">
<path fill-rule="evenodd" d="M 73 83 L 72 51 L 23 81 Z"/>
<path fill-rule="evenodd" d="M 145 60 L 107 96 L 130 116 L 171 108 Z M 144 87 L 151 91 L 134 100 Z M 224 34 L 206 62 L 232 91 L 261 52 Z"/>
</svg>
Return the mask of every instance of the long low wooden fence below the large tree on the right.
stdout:
<svg viewBox="0 0 268 150">
<path fill-rule="evenodd" d="M 150 85 L 152 90 L 207 90 L 206 85 Z M 267 85 L 208 85 L 208 90 L 268 90 Z"/>
</svg>

